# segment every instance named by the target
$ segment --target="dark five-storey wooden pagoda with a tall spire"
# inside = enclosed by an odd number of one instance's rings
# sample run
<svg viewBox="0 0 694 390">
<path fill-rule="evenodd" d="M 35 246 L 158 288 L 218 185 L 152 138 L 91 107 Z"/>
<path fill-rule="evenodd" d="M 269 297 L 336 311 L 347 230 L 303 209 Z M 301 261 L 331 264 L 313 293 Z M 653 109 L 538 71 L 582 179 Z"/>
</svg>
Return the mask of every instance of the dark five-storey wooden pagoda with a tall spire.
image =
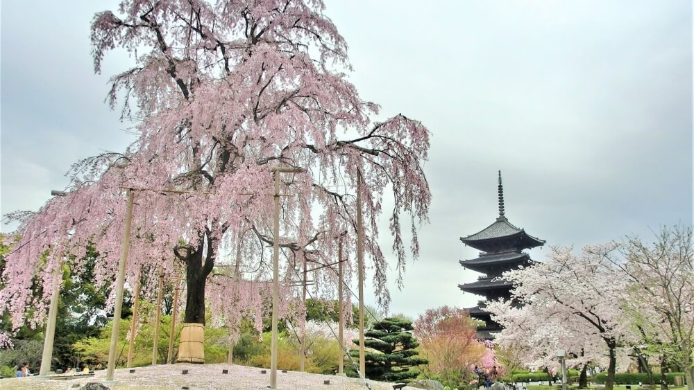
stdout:
<svg viewBox="0 0 694 390">
<path fill-rule="evenodd" d="M 460 265 L 483 274 L 473 283 L 458 285 L 464 292 L 484 296 L 477 306 L 465 310 L 470 317 L 484 322 L 484 326 L 477 328 L 477 335 L 482 339 L 493 339 L 494 333 L 498 333 L 502 328 L 492 321 L 489 312 L 484 310 L 486 301 L 496 301 L 499 298 L 505 301 L 511 299 L 513 287 L 509 281 L 496 279 L 506 271 L 517 269 L 521 265 L 523 267 L 530 265 L 532 260 L 523 250 L 544 245 L 545 241 L 530 236 L 524 229 L 518 229 L 507 220 L 504 215 L 501 171 L 499 171 L 499 217 L 488 227 L 471 236 L 461 237 L 460 240 L 465 245 L 481 251 L 477 258 L 460 260 Z"/>
</svg>

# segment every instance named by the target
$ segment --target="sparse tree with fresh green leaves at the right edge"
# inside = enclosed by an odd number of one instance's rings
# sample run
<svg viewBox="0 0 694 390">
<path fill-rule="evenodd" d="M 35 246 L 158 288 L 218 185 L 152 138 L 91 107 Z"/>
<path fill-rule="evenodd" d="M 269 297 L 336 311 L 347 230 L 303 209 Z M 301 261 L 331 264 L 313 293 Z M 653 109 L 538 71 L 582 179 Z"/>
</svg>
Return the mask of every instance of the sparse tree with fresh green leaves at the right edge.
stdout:
<svg viewBox="0 0 694 390">
<path fill-rule="evenodd" d="M 652 244 L 629 238 L 621 262 L 629 281 L 630 323 L 650 353 L 665 355 L 685 373 L 694 389 L 694 231 L 663 228 Z"/>
</svg>

